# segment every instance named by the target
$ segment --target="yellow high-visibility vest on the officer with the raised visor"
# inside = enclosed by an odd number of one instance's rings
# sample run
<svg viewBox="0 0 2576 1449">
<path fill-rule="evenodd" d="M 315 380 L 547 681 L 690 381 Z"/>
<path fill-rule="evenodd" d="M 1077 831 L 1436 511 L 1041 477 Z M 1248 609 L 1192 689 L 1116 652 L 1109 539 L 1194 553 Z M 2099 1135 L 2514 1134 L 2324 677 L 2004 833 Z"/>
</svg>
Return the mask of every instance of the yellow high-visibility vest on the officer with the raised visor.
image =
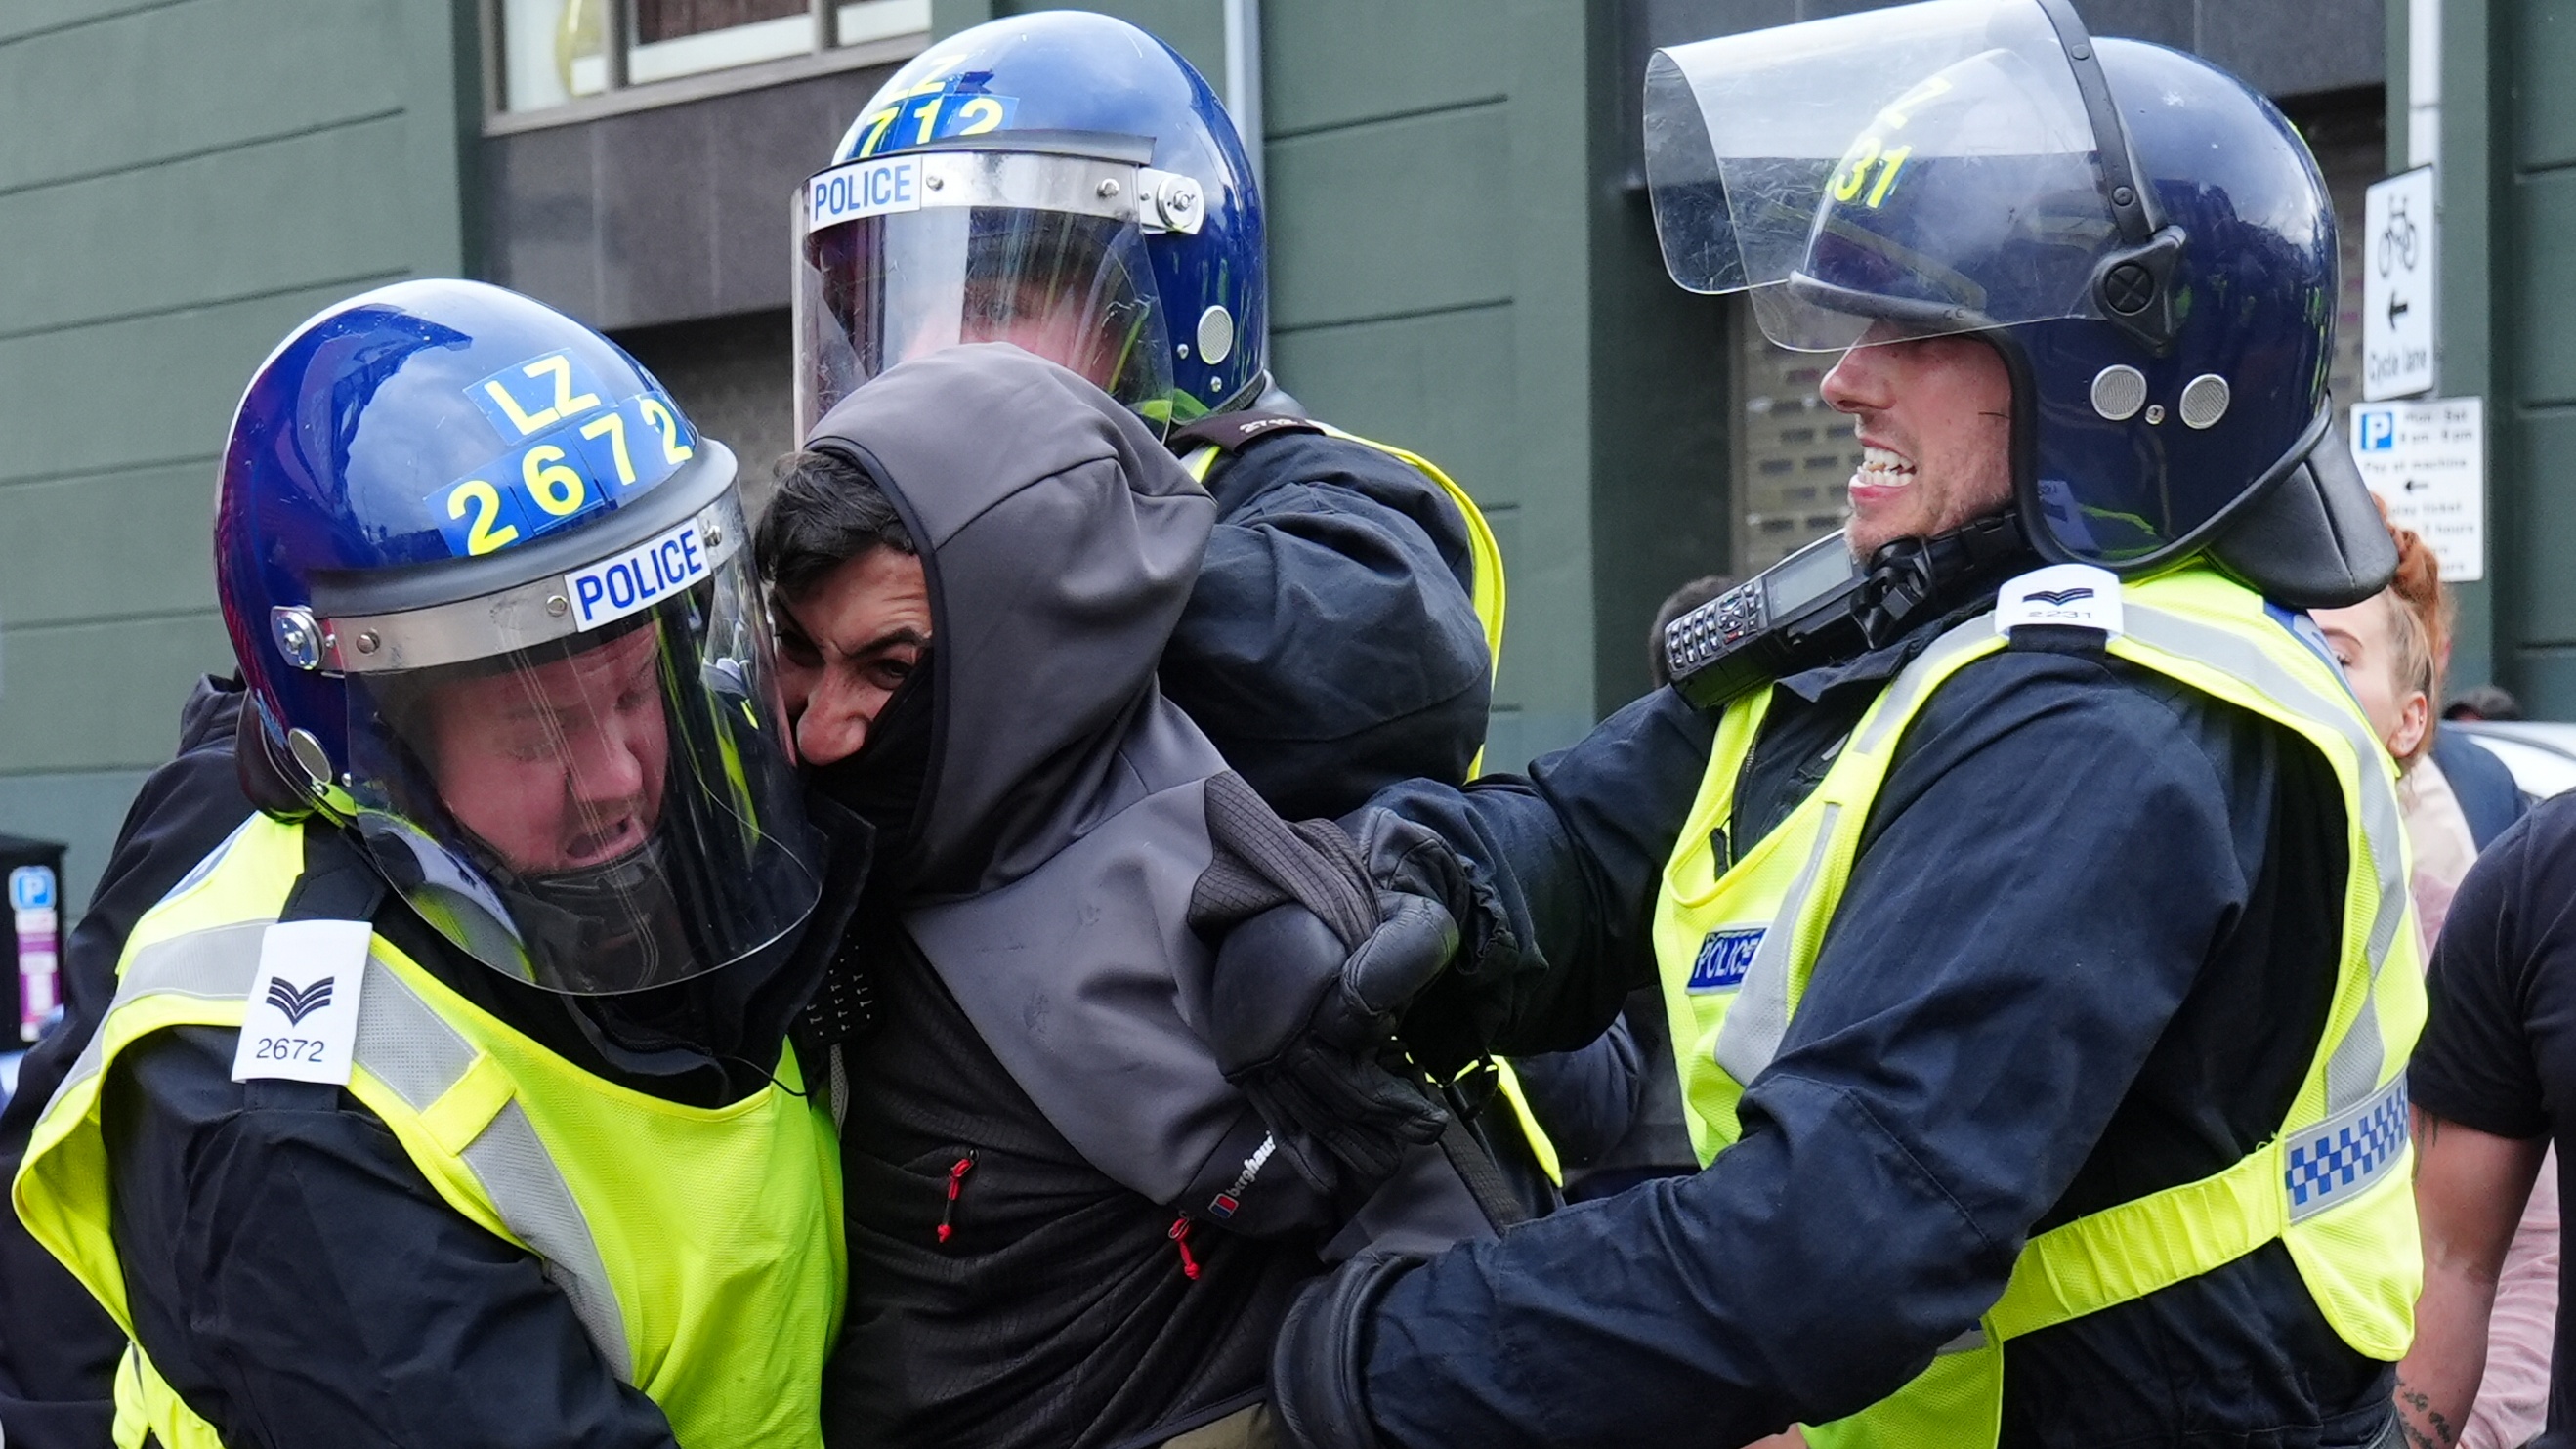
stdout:
<svg viewBox="0 0 2576 1449">
<path fill-rule="evenodd" d="M 2110 575 L 2099 580 L 2112 588 Z M 2251 590 L 2187 567 L 2117 593 L 2112 655 L 2298 732 L 2342 784 L 2352 866 L 2326 1031 L 2277 1137 L 2202 1181 L 2030 1238 L 2004 1297 L 1973 1330 L 1896 1395 L 1811 1426 L 1811 1444 L 1991 1449 L 2004 1341 L 2208 1274 L 2275 1238 L 2354 1351 L 2398 1359 L 2414 1336 L 2424 1269 L 2403 1067 L 2424 1024 L 2424 982 L 2396 773 L 2334 665 Z M 1703 1165 L 1736 1142 L 1744 1085 L 1772 1062 L 1798 1011 L 1906 722 L 1942 681 L 2004 642 L 1991 614 L 1942 634 L 1880 691 L 1816 792 L 1772 833 L 1739 843 L 1734 866 L 1716 861 L 1710 833 L 1734 812 L 1770 691 L 1726 706 L 1654 915 Z"/>
</svg>

